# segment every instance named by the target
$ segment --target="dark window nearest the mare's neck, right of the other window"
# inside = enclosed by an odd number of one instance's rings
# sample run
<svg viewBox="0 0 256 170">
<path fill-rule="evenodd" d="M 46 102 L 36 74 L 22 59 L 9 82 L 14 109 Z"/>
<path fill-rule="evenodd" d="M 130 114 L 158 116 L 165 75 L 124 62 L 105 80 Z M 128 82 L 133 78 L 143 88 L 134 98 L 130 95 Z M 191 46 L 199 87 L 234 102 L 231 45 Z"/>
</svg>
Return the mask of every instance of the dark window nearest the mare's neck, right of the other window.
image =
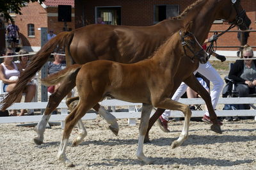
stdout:
<svg viewBox="0 0 256 170">
<path fill-rule="evenodd" d="M 154 5 L 154 24 L 169 17 L 177 17 L 179 13 L 178 4 L 156 4 Z"/>
</svg>

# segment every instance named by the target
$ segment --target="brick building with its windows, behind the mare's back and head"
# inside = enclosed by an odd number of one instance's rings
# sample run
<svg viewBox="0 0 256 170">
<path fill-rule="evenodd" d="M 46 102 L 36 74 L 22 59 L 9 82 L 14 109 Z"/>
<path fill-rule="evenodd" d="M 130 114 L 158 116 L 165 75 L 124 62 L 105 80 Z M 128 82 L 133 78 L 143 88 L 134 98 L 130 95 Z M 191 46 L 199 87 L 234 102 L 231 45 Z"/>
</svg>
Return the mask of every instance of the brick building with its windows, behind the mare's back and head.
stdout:
<svg viewBox="0 0 256 170">
<path fill-rule="evenodd" d="M 75 0 L 76 28 L 94 24 L 97 17 L 104 18 L 107 24 L 122 24 L 126 26 L 151 26 L 166 17 L 179 15 L 195 0 Z M 246 14 L 252 20 L 250 27 L 256 29 L 256 0 L 241 1 Z M 211 30 L 225 30 L 227 25 L 217 20 Z M 233 28 L 232 30 L 237 30 Z M 210 33 L 212 35 L 213 33 Z M 250 33 L 248 44 L 256 45 L 256 33 Z M 226 33 L 218 40 L 218 46 L 239 46 L 237 33 Z M 219 48 L 219 50 L 234 50 Z"/>
</svg>

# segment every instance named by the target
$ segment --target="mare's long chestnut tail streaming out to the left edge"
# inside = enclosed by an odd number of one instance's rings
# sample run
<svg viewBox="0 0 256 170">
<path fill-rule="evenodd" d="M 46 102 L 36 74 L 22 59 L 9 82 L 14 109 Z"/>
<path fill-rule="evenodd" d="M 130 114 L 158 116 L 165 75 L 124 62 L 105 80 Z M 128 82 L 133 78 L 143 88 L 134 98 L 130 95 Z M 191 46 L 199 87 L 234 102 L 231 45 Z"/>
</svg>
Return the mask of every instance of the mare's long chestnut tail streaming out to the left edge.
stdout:
<svg viewBox="0 0 256 170">
<path fill-rule="evenodd" d="M 51 56 L 51 53 L 56 49 L 56 47 L 67 47 L 70 45 L 72 38 L 74 36 L 74 31 L 71 32 L 62 32 L 49 40 L 49 42 L 45 43 L 44 47 L 40 49 L 33 59 L 31 63 L 29 63 L 28 68 L 21 74 L 19 77 L 19 81 L 17 82 L 13 91 L 8 93 L 6 98 L 1 102 L 1 110 L 5 110 L 10 105 L 12 105 L 19 94 L 24 91 L 26 88 L 26 84 L 31 80 L 31 78 L 35 75 L 38 70 L 47 62 L 47 59 Z M 67 48 L 66 48 L 67 49 Z M 69 49 L 69 48 L 68 48 Z"/>
</svg>

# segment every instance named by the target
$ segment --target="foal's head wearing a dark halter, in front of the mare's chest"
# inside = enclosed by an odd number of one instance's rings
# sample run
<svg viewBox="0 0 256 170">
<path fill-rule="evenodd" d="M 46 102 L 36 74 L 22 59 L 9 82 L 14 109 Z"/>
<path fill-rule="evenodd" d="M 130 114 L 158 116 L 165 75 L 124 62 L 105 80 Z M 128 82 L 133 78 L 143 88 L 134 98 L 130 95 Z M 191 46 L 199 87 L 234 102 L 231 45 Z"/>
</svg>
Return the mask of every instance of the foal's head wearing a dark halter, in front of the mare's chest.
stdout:
<svg viewBox="0 0 256 170">
<path fill-rule="evenodd" d="M 180 47 L 182 47 L 183 56 L 190 58 L 194 63 L 196 59 L 199 60 L 200 63 L 205 64 L 209 56 L 202 48 L 200 43 L 196 40 L 196 37 L 189 30 L 192 27 L 193 22 L 189 22 L 184 29 L 180 29 Z"/>
</svg>

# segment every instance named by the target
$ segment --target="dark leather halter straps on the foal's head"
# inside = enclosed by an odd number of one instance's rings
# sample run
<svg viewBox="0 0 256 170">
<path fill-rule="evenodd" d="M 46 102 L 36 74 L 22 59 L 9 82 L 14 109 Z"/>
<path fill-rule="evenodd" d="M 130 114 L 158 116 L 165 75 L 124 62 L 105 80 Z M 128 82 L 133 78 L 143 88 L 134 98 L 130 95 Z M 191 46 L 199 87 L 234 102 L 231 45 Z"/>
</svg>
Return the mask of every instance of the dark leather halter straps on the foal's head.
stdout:
<svg viewBox="0 0 256 170">
<path fill-rule="evenodd" d="M 180 38 L 181 38 L 181 45 L 183 47 L 183 50 L 184 50 L 184 54 L 186 57 L 188 57 L 189 59 L 191 59 L 192 63 L 195 63 L 195 57 L 198 56 L 198 54 L 200 54 L 200 52 L 202 52 L 202 50 L 204 50 L 202 48 L 202 46 L 200 45 L 200 43 L 196 40 L 196 37 L 193 35 L 193 33 L 191 32 L 188 32 L 188 34 L 182 36 L 182 31 L 180 30 L 179 31 L 179 34 L 180 34 Z M 192 50 L 193 48 L 189 45 L 188 42 L 185 41 L 185 38 L 188 37 L 188 36 L 193 36 L 195 42 L 197 43 L 197 45 L 200 47 L 200 50 L 198 50 L 198 52 L 195 52 L 194 50 Z M 194 56 L 188 56 L 187 52 L 186 52 L 186 49 L 185 47 L 188 47 L 188 49 L 190 50 L 190 52 L 192 52 L 194 54 Z M 209 58 L 206 58 L 205 60 L 207 61 Z"/>
</svg>

